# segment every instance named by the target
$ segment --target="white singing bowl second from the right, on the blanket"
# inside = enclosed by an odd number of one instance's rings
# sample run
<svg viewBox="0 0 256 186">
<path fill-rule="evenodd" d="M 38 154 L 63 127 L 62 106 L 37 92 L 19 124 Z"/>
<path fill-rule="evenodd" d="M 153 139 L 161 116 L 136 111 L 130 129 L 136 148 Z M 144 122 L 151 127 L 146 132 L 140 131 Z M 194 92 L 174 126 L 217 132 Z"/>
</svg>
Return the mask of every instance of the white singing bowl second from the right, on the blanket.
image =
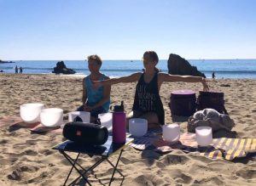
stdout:
<svg viewBox="0 0 256 186">
<path fill-rule="evenodd" d="M 164 125 L 163 129 L 163 138 L 168 142 L 176 142 L 180 138 L 180 127 L 177 124 Z"/>
</svg>

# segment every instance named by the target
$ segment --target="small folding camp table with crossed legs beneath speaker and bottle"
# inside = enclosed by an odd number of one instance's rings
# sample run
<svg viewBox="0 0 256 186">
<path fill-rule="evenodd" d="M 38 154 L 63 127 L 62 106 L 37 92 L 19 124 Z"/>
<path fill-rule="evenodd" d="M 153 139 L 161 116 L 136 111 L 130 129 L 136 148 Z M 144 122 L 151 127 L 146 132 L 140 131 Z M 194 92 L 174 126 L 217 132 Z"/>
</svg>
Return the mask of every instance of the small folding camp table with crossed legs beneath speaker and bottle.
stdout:
<svg viewBox="0 0 256 186">
<path fill-rule="evenodd" d="M 117 167 L 118 167 L 119 160 L 120 160 L 123 150 L 132 141 L 133 141 L 133 138 L 126 138 L 125 144 L 113 144 L 112 136 L 108 136 L 108 141 L 105 144 L 98 145 L 98 146 L 76 144 L 70 140 L 67 140 L 61 144 L 57 144 L 55 147 L 53 147 L 53 149 L 59 150 L 61 155 L 64 155 L 64 157 L 67 159 L 67 161 L 72 165 L 72 168 L 71 168 L 70 172 L 68 172 L 67 178 L 63 185 L 66 185 L 67 180 L 68 180 L 71 172 L 73 171 L 73 168 L 77 172 L 79 172 L 80 176 L 78 178 L 76 178 L 75 180 L 73 180 L 73 182 L 70 183 L 69 185 L 75 183 L 81 177 L 84 178 L 84 181 L 86 183 L 91 185 L 87 177 L 96 168 L 96 166 L 99 166 L 103 161 L 108 161 L 110 166 L 113 166 L 113 174 L 112 174 L 112 177 L 110 178 L 110 182 L 108 185 L 111 185 L 111 183 L 113 182 L 114 172 L 119 172 L 120 176 L 122 177 L 122 182 L 123 182 L 125 179 L 125 176 L 119 171 L 119 169 Z M 67 155 L 66 152 L 78 153 L 78 155 L 76 156 L 75 159 L 73 159 L 69 155 Z M 119 153 L 118 160 L 117 160 L 116 164 L 113 165 L 113 163 L 111 161 L 109 161 L 108 158 L 110 156 L 112 156 L 114 154 L 118 154 L 118 153 Z M 101 159 L 99 161 L 96 161 L 96 163 L 94 165 L 90 166 L 90 168 L 88 168 L 86 170 L 86 169 L 84 169 L 84 167 L 80 166 L 78 163 L 80 154 L 86 154 L 86 155 L 89 155 L 90 157 L 92 157 L 93 155 L 98 155 L 98 156 L 101 156 Z M 79 170 L 79 168 L 80 168 L 80 170 Z"/>
</svg>

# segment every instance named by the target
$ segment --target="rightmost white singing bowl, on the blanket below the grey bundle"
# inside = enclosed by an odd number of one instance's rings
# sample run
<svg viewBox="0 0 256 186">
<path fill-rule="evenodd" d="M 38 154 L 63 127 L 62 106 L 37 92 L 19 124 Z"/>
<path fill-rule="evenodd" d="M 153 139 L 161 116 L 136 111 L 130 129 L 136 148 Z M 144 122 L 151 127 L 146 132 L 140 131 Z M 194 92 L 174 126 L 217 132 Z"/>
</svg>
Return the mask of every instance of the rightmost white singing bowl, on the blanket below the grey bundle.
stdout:
<svg viewBox="0 0 256 186">
<path fill-rule="evenodd" d="M 212 144 L 212 127 L 196 127 L 195 138 L 200 146 Z"/>
</svg>

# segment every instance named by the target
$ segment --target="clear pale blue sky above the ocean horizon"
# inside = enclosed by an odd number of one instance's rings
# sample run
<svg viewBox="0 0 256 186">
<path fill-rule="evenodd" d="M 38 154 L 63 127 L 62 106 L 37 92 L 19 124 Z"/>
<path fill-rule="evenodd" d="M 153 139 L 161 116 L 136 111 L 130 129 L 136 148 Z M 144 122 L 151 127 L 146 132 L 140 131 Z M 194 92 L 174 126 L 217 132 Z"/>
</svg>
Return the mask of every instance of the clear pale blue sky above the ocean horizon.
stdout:
<svg viewBox="0 0 256 186">
<path fill-rule="evenodd" d="M 0 0 L 0 59 L 255 59 L 253 0 Z"/>
</svg>

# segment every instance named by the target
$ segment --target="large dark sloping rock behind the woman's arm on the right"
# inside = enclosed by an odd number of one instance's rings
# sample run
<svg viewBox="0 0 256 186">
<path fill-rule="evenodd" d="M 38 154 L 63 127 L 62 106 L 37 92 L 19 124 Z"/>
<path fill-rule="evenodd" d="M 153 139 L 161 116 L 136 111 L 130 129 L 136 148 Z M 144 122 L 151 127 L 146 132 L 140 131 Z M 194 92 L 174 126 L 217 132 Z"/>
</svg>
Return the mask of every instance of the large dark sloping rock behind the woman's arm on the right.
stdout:
<svg viewBox="0 0 256 186">
<path fill-rule="evenodd" d="M 189 64 L 189 61 L 181 58 L 177 54 L 170 54 L 168 59 L 168 72 L 172 75 L 189 75 L 206 77 L 204 73 L 197 70 L 195 66 Z"/>
</svg>

